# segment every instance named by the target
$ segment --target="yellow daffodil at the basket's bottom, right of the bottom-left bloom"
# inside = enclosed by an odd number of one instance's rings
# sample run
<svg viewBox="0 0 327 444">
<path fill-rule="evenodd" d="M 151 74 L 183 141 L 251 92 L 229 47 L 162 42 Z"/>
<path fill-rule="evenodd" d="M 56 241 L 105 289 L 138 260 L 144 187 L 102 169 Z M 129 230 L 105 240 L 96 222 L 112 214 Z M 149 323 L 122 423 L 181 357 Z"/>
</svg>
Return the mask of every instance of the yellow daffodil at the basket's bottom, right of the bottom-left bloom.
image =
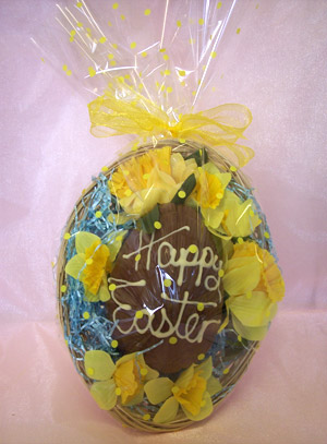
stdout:
<svg viewBox="0 0 327 444">
<path fill-rule="evenodd" d="M 199 365 L 192 364 L 181 373 L 175 382 L 169 377 L 158 377 L 145 384 L 148 400 L 157 405 L 164 403 L 154 417 L 154 422 L 173 421 L 181 406 L 185 416 L 199 421 L 213 411 L 211 395 L 220 392 L 220 382 L 211 375 L 211 357 Z"/>
</svg>

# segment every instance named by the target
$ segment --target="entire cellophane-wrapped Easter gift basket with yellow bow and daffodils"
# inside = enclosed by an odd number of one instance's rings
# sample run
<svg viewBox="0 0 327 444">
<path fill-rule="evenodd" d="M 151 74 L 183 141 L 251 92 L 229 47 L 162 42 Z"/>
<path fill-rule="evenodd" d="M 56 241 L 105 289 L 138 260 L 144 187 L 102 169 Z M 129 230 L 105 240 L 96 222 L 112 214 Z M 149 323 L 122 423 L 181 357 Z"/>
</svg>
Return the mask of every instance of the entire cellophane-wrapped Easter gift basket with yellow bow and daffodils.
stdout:
<svg viewBox="0 0 327 444">
<path fill-rule="evenodd" d="M 235 3 L 58 5 L 64 49 L 56 61 L 94 94 L 92 133 L 131 137 L 64 228 L 60 320 L 98 406 L 144 431 L 207 418 L 247 368 L 284 292 L 241 171 L 254 155 L 239 143 L 251 111 L 196 109 L 213 94 Z"/>
</svg>

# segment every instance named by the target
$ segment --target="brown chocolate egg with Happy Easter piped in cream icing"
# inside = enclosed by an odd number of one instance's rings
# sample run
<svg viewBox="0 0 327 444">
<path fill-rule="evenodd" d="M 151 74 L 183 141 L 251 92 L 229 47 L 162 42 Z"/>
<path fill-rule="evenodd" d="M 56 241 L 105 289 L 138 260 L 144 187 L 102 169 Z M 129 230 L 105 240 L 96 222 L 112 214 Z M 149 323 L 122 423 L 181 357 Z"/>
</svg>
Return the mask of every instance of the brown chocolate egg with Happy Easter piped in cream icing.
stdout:
<svg viewBox="0 0 327 444">
<path fill-rule="evenodd" d="M 107 316 L 122 355 L 143 351 L 160 373 L 196 362 L 222 320 L 221 260 L 199 213 L 159 205 L 153 233 L 128 235 L 109 277 Z"/>
</svg>

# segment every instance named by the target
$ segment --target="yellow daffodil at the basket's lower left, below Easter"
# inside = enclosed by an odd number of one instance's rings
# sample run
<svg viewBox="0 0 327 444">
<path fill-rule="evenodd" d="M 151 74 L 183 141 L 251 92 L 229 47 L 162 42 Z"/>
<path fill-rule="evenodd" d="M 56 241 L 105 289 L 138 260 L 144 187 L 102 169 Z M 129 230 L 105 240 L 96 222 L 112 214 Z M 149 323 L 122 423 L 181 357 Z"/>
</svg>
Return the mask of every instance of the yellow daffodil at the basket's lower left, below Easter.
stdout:
<svg viewBox="0 0 327 444">
<path fill-rule="evenodd" d="M 85 353 L 84 367 L 86 374 L 97 381 L 90 394 L 104 410 L 111 410 L 119 397 L 124 406 L 142 403 L 144 383 L 159 374 L 145 363 L 143 355 L 136 353 L 125 355 L 114 364 L 106 351 L 89 350 Z"/>
</svg>

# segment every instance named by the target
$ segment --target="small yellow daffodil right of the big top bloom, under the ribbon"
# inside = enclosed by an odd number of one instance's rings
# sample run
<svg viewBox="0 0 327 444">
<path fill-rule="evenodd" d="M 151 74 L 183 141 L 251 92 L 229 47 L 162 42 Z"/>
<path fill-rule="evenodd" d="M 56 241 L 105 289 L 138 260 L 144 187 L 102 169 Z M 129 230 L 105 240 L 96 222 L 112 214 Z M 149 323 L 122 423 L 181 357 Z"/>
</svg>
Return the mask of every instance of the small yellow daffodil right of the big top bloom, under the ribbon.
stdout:
<svg viewBox="0 0 327 444">
<path fill-rule="evenodd" d="M 219 205 L 230 179 L 229 172 L 220 172 L 211 163 L 198 167 L 198 178 L 192 197 L 202 211 L 214 209 Z"/>
</svg>

